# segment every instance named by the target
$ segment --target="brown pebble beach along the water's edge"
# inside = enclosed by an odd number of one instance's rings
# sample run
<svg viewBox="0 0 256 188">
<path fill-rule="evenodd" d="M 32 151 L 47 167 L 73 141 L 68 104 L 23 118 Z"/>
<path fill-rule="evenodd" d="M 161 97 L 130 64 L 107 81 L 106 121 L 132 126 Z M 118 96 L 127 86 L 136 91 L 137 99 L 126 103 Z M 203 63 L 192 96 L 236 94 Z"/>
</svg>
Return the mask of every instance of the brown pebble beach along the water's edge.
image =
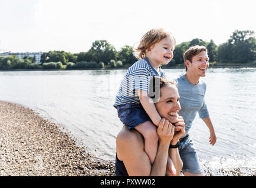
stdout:
<svg viewBox="0 0 256 188">
<path fill-rule="evenodd" d="M 248 167 L 202 169 L 204 176 L 256 176 Z M 114 163 L 78 146 L 61 125 L 0 101 L 0 176 L 114 176 Z"/>
</svg>

